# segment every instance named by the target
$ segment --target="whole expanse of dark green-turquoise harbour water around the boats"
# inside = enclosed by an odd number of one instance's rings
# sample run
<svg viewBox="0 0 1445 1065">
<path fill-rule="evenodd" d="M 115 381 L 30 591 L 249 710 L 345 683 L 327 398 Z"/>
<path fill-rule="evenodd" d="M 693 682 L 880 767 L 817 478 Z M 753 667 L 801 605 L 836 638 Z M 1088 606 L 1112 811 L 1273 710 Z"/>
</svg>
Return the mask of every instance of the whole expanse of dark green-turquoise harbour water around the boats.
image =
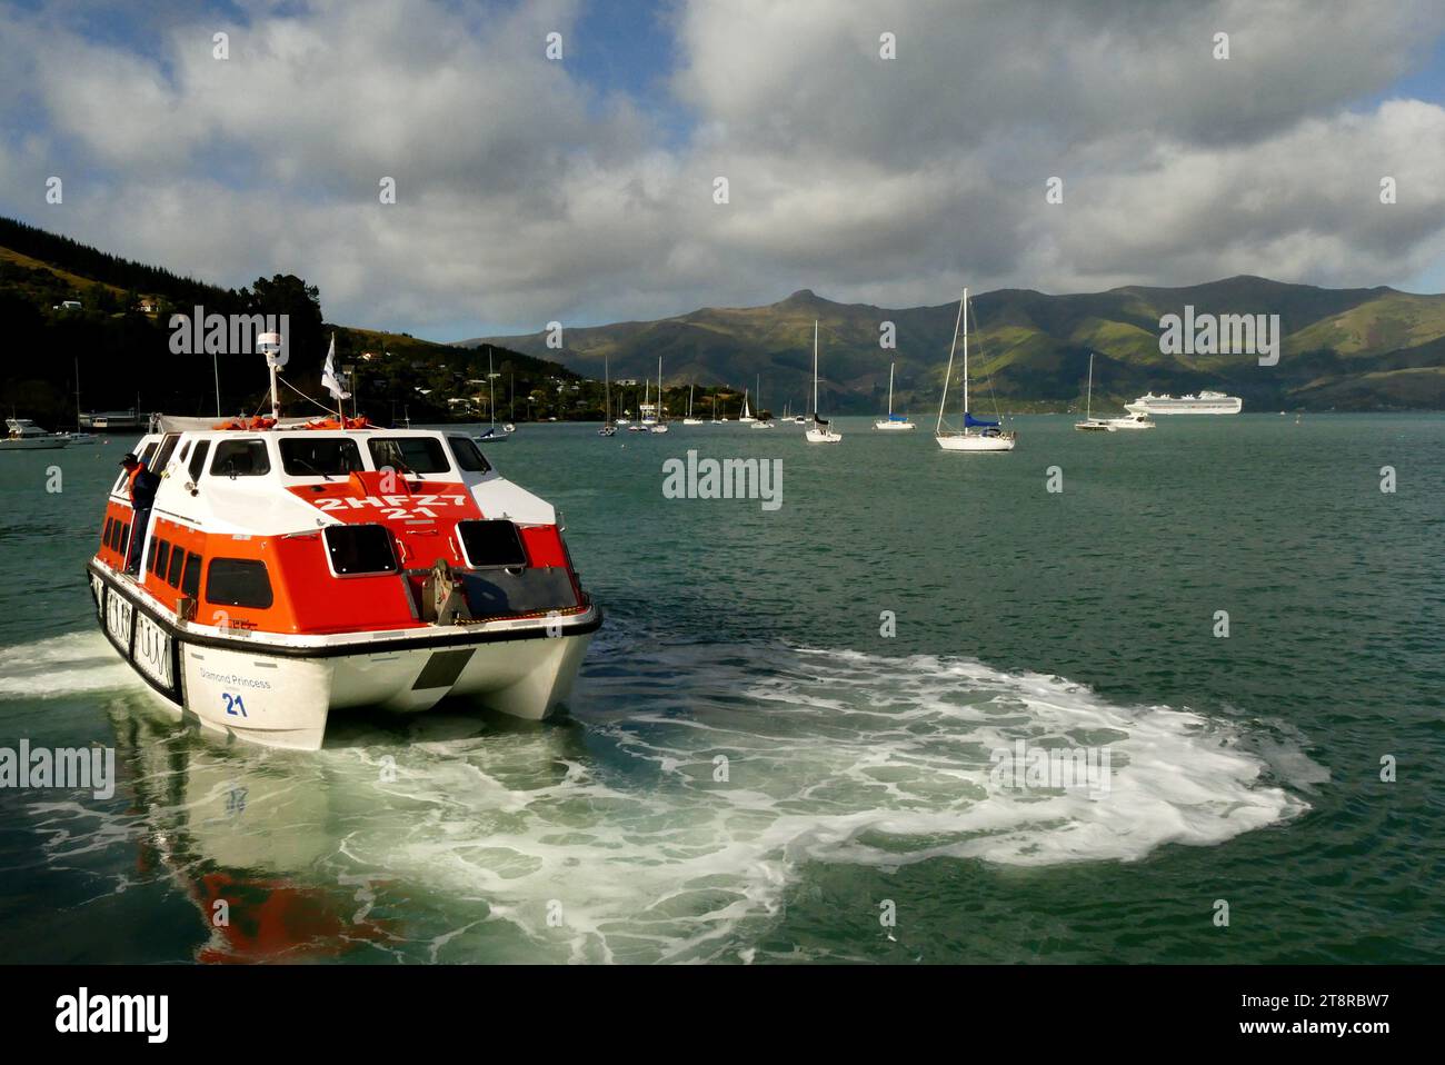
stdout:
<svg viewBox="0 0 1445 1065">
<path fill-rule="evenodd" d="M 1072 421 L 522 426 L 490 457 L 607 610 L 568 717 L 316 754 L 191 731 L 95 630 L 126 441 L 0 455 L 0 746 L 120 775 L 0 790 L 0 960 L 1439 960 L 1445 418 Z M 665 499 L 688 448 L 780 458 L 783 506 Z M 1111 786 L 1001 789 L 1019 740 Z"/>
</svg>

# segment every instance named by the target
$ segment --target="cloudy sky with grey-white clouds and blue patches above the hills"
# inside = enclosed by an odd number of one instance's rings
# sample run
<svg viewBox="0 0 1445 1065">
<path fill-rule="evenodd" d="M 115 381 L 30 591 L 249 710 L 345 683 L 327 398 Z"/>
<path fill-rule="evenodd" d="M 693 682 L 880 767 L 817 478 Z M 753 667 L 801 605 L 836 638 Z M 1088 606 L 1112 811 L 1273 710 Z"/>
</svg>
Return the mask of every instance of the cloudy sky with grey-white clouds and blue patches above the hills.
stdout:
<svg viewBox="0 0 1445 1065">
<path fill-rule="evenodd" d="M 0 212 L 434 340 L 801 288 L 1445 289 L 1439 0 L 0 0 Z"/>
</svg>

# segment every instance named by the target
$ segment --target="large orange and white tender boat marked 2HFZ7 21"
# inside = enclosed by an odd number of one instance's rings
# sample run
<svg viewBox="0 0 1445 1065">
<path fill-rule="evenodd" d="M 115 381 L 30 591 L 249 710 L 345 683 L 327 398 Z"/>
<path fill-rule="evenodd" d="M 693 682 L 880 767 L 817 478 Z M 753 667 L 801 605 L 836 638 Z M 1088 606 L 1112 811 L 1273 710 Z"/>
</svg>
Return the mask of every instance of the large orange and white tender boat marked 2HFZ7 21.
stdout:
<svg viewBox="0 0 1445 1065">
<path fill-rule="evenodd" d="M 95 610 L 212 730 L 315 750 L 332 711 L 448 697 L 540 720 L 601 626 L 556 512 L 462 432 L 160 418 L 133 449 L 162 481 L 136 577 L 124 471 L 113 486 Z"/>
</svg>

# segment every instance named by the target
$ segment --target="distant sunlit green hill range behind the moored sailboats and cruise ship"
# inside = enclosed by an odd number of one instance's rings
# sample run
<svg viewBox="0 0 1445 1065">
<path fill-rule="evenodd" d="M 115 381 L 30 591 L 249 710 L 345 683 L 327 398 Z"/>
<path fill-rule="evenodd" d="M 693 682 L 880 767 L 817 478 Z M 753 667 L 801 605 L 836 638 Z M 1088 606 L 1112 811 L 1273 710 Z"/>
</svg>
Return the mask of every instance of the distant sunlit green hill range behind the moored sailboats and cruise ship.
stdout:
<svg viewBox="0 0 1445 1065">
<path fill-rule="evenodd" d="M 1195 314 L 1279 315 L 1279 364 L 1261 367 L 1254 354 L 1165 354 L 1160 318 L 1182 315 L 1186 305 Z M 1104 410 L 1150 389 L 1208 387 L 1243 396 L 1251 410 L 1445 406 L 1431 373 L 1402 373 L 1445 364 L 1445 296 L 1238 276 L 1065 296 L 1000 289 L 974 295 L 971 306 L 970 355 L 984 410 L 994 402 L 1013 410 L 1081 405 L 1091 351 L 1094 399 Z M 890 309 L 835 303 L 803 289 L 767 306 L 571 328 L 559 350 L 546 347 L 545 334 L 488 342 L 546 354 L 590 376 L 601 374 L 604 357 L 614 377 L 656 374 L 660 357 L 669 386 L 695 380 L 740 390 L 762 377 L 764 400 L 798 408 L 811 387 L 816 318 L 825 409 L 881 409 L 896 361 L 894 405 L 919 412 L 938 402 L 957 314 L 957 303 Z M 883 322 L 896 328 L 894 350 L 879 344 Z"/>
</svg>

